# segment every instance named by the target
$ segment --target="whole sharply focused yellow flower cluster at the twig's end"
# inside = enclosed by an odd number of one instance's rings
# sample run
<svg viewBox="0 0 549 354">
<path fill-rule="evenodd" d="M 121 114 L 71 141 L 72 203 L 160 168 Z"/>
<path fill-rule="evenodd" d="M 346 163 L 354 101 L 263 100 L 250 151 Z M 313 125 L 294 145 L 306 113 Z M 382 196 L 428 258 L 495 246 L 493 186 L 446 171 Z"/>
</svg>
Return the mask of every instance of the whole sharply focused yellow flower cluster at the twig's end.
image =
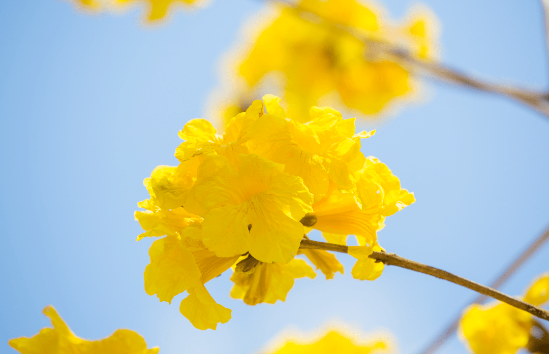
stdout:
<svg viewBox="0 0 549 354">
<path fill-rule="evenodd" d="M 150 199 L 138 205 L 144 237 L 156 240 L 145 269 L 145 290 L 171 302 L 187 291 L 181 313 L 199 329 L 231 318 L 204 284 L 233 269 L 231 296 L 246 304 L 284 301 L 294 279 L 315 277 L 305 255 L 332 278 L 343 266 L 332 254 L 300 250 L 312 228 L 345 243 L 358 261 L 355 278 L 375 279 L 383 263 L 376 232 L 386 216 L 413 203 L 413 194 L 375 158 L 360 151 L 354 119 L 329 107 L 313 107 L 310 120 L 289 119 L 280 99 L 266 95 L 233 117 L 221 136 L 210 122 L 189 121 L 179 136 L 177 167 L 158 166 L 144 181 Z"/>
</svg>

